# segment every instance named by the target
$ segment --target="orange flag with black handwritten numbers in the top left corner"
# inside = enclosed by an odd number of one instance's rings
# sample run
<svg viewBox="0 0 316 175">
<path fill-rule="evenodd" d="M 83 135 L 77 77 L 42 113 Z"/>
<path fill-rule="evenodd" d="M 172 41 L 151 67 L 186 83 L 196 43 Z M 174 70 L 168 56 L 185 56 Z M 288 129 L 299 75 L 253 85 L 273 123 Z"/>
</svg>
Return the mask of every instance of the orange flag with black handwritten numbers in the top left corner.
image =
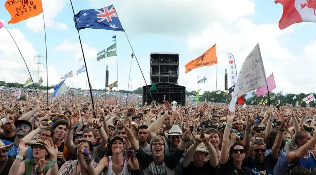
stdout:
<svg viewBox="0 0 316 175">
<path fill-rule="evenodd" d="M 11 15 L 8 24 L 18 23 L 43 12 L 41 0 L 7 0 L 4 6 Z"/>
</svg>

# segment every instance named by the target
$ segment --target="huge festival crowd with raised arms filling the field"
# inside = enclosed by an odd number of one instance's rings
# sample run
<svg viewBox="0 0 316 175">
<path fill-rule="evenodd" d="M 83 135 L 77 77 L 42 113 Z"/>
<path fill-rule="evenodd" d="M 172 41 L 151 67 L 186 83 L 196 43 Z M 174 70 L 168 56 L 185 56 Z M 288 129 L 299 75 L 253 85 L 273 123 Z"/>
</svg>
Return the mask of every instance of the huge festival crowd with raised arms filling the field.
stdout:
<svg viewBox="0 0 316 175">
<path fill-rule="evenodd" d="M 0 175 L 316 175 L 315 108 L 0 97 Z"/>
</svg>

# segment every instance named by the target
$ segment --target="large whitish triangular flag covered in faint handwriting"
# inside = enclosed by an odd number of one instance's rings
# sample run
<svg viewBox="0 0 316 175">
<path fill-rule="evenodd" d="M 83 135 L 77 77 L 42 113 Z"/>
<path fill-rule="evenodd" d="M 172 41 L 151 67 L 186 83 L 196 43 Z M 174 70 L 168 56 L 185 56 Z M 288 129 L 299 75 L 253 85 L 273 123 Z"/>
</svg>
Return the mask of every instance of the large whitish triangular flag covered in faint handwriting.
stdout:
<svg viewBox="0 0 316 175">
<path fill-rule="evenodd" d="M 229 110 L 235 110 L 235 104 L 240 96 L 247 94 L 257 88 L 267 86 L 265 68 L 262 62 L 259 44 L 251 51 L 242 63 L 237 83 L 232 93 Z"/>
</svg>

